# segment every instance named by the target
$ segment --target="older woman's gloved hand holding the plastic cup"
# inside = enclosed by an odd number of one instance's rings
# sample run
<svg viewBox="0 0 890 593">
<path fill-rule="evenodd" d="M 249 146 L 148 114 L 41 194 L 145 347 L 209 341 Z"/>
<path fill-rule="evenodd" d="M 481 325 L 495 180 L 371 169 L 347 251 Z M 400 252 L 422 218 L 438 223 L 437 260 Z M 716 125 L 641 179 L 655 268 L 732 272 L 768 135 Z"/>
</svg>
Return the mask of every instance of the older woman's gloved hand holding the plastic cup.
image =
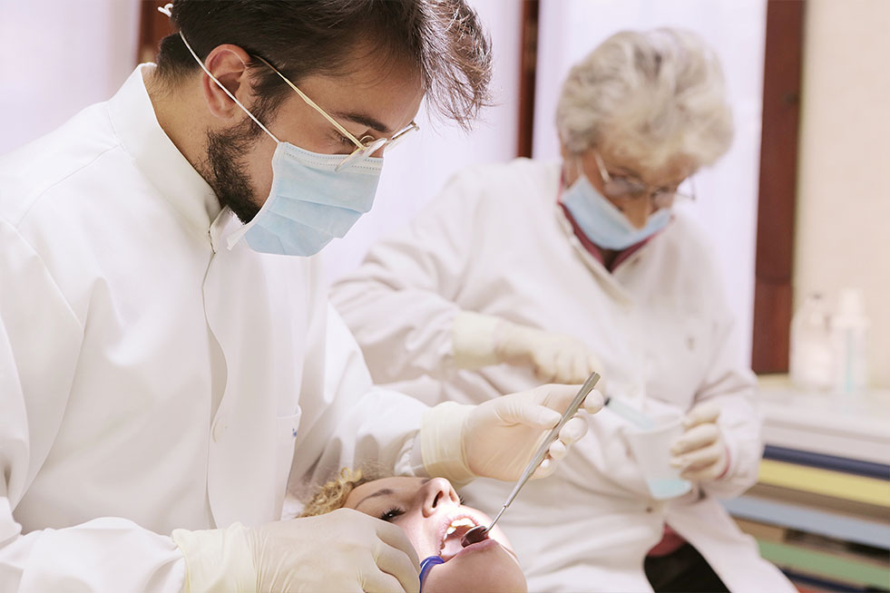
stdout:
<svg viewBox="0 0 890 593">
<path fill-rule="evenodd" d="M 711 481 L 729 469 L 729 449 L 717 424 L 719 406 L 701 403 L 683 418 L 684 432 L 670 446 L 670 464 L 690 481 Z"/>
</svg>

